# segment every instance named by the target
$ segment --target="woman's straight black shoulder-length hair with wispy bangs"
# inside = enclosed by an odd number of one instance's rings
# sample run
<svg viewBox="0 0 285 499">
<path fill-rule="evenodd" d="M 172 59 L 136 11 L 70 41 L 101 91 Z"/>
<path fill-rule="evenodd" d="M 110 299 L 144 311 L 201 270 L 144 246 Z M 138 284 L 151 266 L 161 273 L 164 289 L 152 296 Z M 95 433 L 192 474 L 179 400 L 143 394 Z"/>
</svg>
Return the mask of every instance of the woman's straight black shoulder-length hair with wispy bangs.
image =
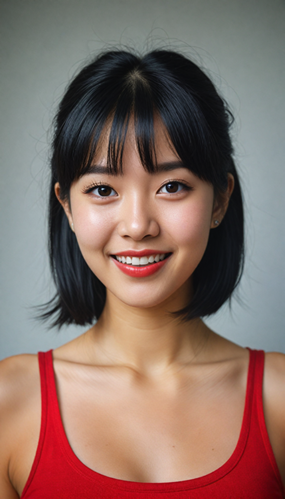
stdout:
<svg viewBox="0 0 285 499">
<path fill-rule="evenodd" d="M 133 120 L 139 157 L 155 172 L 154 119 L 158 116 L 184 166 L 226 191 L 235 179 L 228 210 L 210 231 L 193 274 L 194 296 L 178 314 L 186 320 L 216 312 L 231 297 L 244 262 L 244 215 L 229 134 L 232 113 L 210 78 L 184 55 L 154 50 L 139 57 L 112 50 L 96 57 L 69 84 L 55 118 L 49 198 L 49 255 L 55 296 L 41 317 L 53 325 L 91 324 L 105 303 L 106 289 L 85 262 L 54 193 L 69 199 L 72 182 L 88 172 L 106 124 L 110 124 L 107 169 L 122 171 L 126 132 Z"/>
</svg>

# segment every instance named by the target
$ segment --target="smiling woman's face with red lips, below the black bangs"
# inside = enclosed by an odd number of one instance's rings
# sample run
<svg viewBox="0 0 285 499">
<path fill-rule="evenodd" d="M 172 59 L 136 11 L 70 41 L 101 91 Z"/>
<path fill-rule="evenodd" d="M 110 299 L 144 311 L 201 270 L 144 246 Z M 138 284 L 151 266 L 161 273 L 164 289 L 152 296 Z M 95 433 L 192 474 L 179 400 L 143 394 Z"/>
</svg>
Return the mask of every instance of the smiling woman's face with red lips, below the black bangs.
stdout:
<svg viewBox="0 0 285 499">
<path fill-rule="evenodd" d="M 162 303 L 186 283 L 214 227 L 213 186 L 181 166 L 159 125 L 156 134 L 159 173 L 142 167 L 130 129 L 123 174 L 105 173 L 102 144 L 93 171 L 71 186 L 71 212 L 63 203 L 91 270 L 134 307 Z"/>
</svg>

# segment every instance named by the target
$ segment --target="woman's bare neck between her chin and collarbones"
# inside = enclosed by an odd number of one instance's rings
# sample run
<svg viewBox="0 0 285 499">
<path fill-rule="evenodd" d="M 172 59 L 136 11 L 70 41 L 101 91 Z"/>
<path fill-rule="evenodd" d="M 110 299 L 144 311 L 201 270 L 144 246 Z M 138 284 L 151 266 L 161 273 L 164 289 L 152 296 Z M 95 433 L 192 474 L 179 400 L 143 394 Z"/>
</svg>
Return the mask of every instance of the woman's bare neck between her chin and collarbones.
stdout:
<svg viewBox="0 0 285 499">
<path fill-rule="evenodd" d="M 151 374 L 197 360 L 210 330 L 200 318 L 183 322 L 171 314 L 186 305 L 185 296 L 179 289 L 162 304 L 137 308 L 107 291 L 102 315 L 90 329 L 96 361 Z"/>
</svg>

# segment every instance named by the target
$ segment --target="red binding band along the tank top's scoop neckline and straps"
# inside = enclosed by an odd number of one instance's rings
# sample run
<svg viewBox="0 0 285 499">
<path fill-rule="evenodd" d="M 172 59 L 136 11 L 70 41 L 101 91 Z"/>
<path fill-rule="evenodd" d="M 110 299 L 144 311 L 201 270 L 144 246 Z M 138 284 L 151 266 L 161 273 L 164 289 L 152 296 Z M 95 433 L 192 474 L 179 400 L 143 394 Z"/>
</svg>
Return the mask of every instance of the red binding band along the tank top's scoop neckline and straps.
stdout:
<svg viewBox="0 0 285 499">
<path fill-rule="evenodd" d="M 214 482 L 217 482 L 225 475 L 230 473 L 233 470 L 233 468 L 238 464 L 244 453 L 246 443 L 248 440 L 250 420 L 251 420 L 251 410 L 252 410 L 252 399 L 253 399 L 253 378 L 254 378 L 255 361 L 256 361 L 256 355 L 255 355 L 256 351 L 251 349 L 249 349 L 249 351 L 250 351 L 250 356 L 249 356 L 249 365 L 248 365 L 248 374 L 247 374 L 247 388 L 246 388 L 243 420 L 237 445 L 230 458 L 222 466 L 220 466 L 213 472 L 208 473 L 207 475 L 203 475 L 202 477 L 197 477 L 189 480 L 176 481 L 176 482 L 131 482 L 128 480 L 121 480 L 118 478 L 109 477 L 107 475 L 98 473 L 95 470 L 92 470 L 88 466 L 84 465 L 72 450 L 69 441 L 67 439 L 61 419 L 57 392 L 56 392 L 52 350 L 49 350 L 48 352 L 46 352 L 47 360 L 49 363 L 51 363 L 50 367 L 52 368 L 52 373 L 53 373 L 53 377 L 52 379 L 50 379 L 49 390 L 51 391 L 50 395 L 53 402 L 54 418 L 57 420 L 57 424 L 55 425 L 56 433 L 60 441 L 61 450 L 64 453 L 66 460 L 75 471 L 77 471 L 80 475 L 83 475 L 91 482 L 97 482 L 97 483 L 100 482 L 102 485 L 108 488 L 113 488 L 126 492 L 169 493 L 169 492 L 199 489 L 200 487 L 205 487 Z"/>
</svg>

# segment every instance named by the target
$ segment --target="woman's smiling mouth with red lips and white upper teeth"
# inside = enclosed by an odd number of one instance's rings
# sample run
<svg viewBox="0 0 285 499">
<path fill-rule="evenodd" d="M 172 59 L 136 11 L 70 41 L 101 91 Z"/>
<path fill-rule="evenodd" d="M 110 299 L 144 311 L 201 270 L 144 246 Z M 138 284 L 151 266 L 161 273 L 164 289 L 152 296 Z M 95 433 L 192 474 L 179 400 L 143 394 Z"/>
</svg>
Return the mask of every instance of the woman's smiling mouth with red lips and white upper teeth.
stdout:
<svg viewBox="0 0 285 499">
<path fill-rule="evenodd" d="M 148 253 L 148 254 L 147 254 Z M 172 253 L 158 253 L 153 250 L 127 251 L 111 255 L 117 267 L 131 277 L 147 277 L 157 272 Z"/>
</svg>

